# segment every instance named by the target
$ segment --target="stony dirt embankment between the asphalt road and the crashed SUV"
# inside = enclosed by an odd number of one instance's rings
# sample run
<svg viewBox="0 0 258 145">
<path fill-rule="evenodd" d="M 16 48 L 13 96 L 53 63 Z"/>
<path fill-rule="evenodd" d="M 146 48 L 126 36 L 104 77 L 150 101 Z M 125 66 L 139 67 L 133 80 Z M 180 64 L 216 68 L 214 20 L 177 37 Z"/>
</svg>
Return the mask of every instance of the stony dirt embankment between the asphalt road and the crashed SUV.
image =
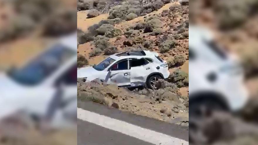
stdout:
<svg viewBox="0 0 258 145">
<path fill-rule="evenodd" d="M 182 96 L 174 84 L 166 85 L 156 91 L 138 88 L 130 91 L 99 80 L 79 81 L 77 97 L 82 101 L 101 103 L 137 115 L 188 125 L 188 97 Z"/>
</svg>

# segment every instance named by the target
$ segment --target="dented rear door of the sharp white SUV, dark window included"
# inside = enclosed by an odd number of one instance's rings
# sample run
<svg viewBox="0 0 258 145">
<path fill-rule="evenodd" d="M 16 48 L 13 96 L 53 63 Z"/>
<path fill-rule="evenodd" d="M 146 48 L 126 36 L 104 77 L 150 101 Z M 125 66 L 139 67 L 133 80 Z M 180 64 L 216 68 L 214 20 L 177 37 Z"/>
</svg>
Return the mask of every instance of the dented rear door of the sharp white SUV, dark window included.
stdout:
<svg viewBox="0 0 258 145">
<path fill-rule="evenodd" d="M 145 85 L 148 75 L 155 72 L 152 62 L 150 58 L 130 59 L 131 86 Z"/>
</svg>

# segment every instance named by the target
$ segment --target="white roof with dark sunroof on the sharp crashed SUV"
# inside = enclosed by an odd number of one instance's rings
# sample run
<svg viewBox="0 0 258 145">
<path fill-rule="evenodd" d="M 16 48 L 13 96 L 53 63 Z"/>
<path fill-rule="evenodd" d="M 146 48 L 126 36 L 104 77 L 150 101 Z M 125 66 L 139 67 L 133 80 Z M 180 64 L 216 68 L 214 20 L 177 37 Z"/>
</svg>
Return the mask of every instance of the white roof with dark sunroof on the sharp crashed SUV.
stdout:
<svg viewBox="0 0 258 145">
<path fill-rule="evenodd" d="M 141 55 L 142 54 L 142 55 Z M 120 59 L 126 59 L 126 58 L 143 58 L 143 57 L 150 57 L 150 56 L 158 56 L 159 54 L 157 52 L 151 52 L 151 51 L 130 51 L 130 52 L 121 52 L 116 53 L 113 55 L 110 55 L 112 59 L 120 60 Z"/>
</svg>

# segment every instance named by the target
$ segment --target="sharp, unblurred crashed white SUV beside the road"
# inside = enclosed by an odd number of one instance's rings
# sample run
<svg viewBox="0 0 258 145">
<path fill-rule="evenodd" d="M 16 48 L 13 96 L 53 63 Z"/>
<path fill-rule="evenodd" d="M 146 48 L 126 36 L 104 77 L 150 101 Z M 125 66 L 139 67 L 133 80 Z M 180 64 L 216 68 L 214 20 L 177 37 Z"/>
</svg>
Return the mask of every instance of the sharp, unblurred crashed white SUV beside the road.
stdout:
<svg viewBox="0 0 258 145">
<path fill-rule="evenodd" d="M 136 51 L 110 55 L 98 65 L 77 70 L 77 78 L 100 79 L 122 87 L 144 86 L 157 89 L 157 80 L 169 77 L 168 64 L 157 52 Z"/>
</svg>

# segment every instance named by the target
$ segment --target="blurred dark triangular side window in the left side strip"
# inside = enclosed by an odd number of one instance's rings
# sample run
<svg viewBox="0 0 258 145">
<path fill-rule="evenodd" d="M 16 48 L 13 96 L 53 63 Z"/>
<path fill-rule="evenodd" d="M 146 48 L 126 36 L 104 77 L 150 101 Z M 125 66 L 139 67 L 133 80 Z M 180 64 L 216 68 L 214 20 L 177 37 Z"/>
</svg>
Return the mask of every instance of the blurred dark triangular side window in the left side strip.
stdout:
<svg viewBox="0 0 258 145">
<path fill-rule="evenodd" d="M 62 76 L 60 76 L 55 85 L 64 83 L 65 85 L 76 85 L 77 84 L 77 65 L 72 66 Z"/>
</svg>

